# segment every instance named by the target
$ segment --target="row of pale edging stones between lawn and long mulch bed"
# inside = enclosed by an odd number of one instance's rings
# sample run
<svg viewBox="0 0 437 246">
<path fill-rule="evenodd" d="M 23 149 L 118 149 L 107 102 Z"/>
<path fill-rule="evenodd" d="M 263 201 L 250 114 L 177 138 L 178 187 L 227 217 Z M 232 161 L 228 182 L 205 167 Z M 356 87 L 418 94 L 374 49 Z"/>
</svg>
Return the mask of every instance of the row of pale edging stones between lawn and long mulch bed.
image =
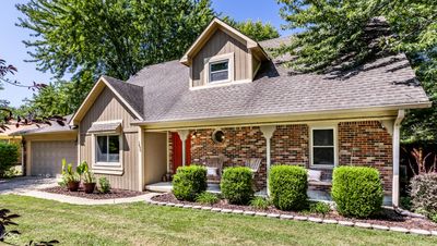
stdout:
<svg viewBox="0 0 437 246">
<path fill-rule="evenodd" d="M 335 220 L 335 219 L 321 219 L 321 218 L 317 218 L 317 217 L 306 217 L 306 216 L 253 212 L 253 211 L 245 211 L 245 210 L 240 210 L 240 209 L 222 209 L 222 208 L 212 208 L 210 206 L 199 206 L 199 205 L 198 206 L 181 205 L 181 204 L 175 205 L 173 202 L 154 201 L 151 198 L 146 199 L 145 202 L 150 204 L 150 205 L 157 205 L 157 206 L 188 208 L 188 209 L 196 209 L 196 210 L 208 210 L 208 211 L 218 212 L 218 213 L 243 214 L 243 216 L 251 216 L 251 217 L 267 217 L 267 218 L 280 219 L 280 220 L 309 221 L 312 223 L 338 224 L 338 225 L 342 225 L 342 226 L 354 226 L 354 227 L 369 229 L 369 230 L 400 232 L 400 233 L 414 234 L 414 235 L 437 236 L 437 231 L 428 231 L 428 230 L 422 230 L 422 229 L 387 226 L 387 225 L 381 225 L 381 224 L 343 221 L 343 220 Z"/>
</svg>

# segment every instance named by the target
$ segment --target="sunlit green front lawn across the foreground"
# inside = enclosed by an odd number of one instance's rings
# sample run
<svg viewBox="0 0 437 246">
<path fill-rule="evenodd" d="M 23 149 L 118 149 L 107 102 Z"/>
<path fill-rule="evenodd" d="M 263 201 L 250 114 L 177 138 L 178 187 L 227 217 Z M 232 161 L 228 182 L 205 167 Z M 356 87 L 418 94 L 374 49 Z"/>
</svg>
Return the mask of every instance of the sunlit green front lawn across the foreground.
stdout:
<svg viewBox="0 0 437 246">
<path fill-rule="evenodd" d="M 21 216 L 15 221 L 22 235 L 8 239 L 19 245 L 31 239 L 60 245 L 437 245 L 437 237 L 143 202 L 74 206 L 2 195 L 0 207 Z"/>
</svg>

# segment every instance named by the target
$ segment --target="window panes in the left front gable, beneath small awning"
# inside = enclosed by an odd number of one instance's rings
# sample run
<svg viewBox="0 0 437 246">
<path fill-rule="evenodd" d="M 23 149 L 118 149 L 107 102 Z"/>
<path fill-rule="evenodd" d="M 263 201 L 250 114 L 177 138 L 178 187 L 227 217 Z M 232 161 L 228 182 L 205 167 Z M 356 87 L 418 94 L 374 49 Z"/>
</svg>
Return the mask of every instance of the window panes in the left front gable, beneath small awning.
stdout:
<svg viewBox="0 0 437 246">
<path fill-rule="evenodd" d="M 120 162 L 120 138 L 118 135 L 96 136 L 96 162 Z"/>
</svg>

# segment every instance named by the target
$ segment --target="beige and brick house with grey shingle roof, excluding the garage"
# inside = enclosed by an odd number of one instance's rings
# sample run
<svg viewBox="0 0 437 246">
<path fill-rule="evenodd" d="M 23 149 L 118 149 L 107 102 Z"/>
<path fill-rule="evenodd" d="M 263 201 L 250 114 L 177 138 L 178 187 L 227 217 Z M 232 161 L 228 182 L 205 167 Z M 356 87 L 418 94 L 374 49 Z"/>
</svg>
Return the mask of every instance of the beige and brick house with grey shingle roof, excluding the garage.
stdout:
<svg viewBox="0 0 437 246">
<path fill-rule="evenodd" d="M 214 19 L 179 61 L 127 82 L 102 76 L 70 121 L 78 162 L 134 190 L 213 158 L 260 159 L 259 189 L 275 163 L 319 170 L 311 188 L 321 190 L 338 165 L 374 167 L 398 205 L 400 123 L 406 109 L 430 107 L 405 56 L 298 74 L 267 52 L 288 39 L 257 42 Z"/>
</svg>

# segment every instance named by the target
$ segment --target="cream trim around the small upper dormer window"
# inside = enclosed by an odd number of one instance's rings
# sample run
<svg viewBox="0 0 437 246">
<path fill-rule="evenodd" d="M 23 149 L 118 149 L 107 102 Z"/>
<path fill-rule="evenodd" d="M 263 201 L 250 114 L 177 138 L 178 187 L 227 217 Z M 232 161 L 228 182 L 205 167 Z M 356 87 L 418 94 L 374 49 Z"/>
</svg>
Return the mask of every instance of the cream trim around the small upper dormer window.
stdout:
<svg viewBox="0 0 437 246">
<path fill-rule="evenodd" d="M 211 76 L 210 76 L 210 67 L 212 63 L 217 63 L 224 60 L 228 60 L 228 64 L 227 64 L 227 79 L 223 79 L 223 81 L 215 81 L 215 82 L 210 82 L 211 81 Z M 203 75 L 203 79 L 204 79 L 204 85 L 218 85 L 218 84 L 226 84 L 226 83 L 231 83 L 235 81 L 235 73 L 234 73 L 234 52 L 231 53 L 224 53 L 224 54 L 217 54 L 211 58 L 205 58 L 204 59 L 204 75 Z"/>
</svg>

